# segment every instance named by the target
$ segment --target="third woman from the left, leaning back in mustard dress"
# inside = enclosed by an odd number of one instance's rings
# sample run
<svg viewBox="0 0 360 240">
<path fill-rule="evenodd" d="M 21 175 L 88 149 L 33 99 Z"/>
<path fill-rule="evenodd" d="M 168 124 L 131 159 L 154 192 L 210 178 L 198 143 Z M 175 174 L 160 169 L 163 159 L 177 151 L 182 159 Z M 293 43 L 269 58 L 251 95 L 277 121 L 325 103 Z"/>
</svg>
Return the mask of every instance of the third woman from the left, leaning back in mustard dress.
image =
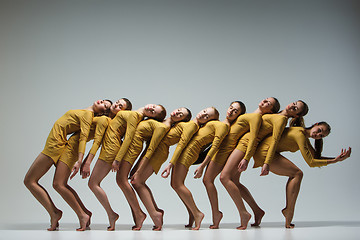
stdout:
<svg viewBox="0 0 360 240">
<path fill-rule="evenodd" d="M 89 188 L 105 208 L 108 215 L 110 224 L 107 228 L 108 231 L 115 230 L 115 222 L 119 215 L 111 208 L 106 193 L 100 184 L 110 172 L 115 158 L 122 157 L 126 153 L 139 122 L 144 117 L 162 118 L 164 114 L 164 109 L 161 105 L 148 104 L 137 111 L 119 111 L 110 121 L 104 135 L 100 156 L 96 161 L 88 183 Z M 123 136 L 124 141 L 122 142 L 121 138 Z"/>
</svg>

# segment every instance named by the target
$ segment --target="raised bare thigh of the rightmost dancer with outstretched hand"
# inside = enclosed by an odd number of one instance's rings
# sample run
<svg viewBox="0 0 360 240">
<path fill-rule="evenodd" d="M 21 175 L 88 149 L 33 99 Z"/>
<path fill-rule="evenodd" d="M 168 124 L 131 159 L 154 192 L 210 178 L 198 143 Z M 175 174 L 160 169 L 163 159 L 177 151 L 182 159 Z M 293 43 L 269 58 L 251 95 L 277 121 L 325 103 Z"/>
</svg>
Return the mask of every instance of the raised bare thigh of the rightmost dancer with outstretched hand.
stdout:
<svg viewBox="0 0 360 240">
<path fill-rule="evenodd" d="M 293 177 L 300 169 L 286 157 L 276 153 L 270 171 L 280 176 Z"/>
</svg>

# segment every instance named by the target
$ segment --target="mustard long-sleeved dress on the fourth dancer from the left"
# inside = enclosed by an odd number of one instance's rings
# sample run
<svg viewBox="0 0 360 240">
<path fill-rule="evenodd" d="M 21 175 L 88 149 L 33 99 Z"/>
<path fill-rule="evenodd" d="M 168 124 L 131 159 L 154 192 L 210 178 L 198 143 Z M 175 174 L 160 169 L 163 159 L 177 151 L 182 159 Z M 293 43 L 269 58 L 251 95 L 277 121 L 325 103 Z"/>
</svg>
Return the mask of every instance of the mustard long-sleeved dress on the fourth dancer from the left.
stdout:
<svg viewBox="0 0 360 240">
<path fill-rule="evenodd" d="M 134 164 L 136 158 L 141 153 L 143 142 L 145 141 L 150 141 L 145 154 L 145 157 L 150 159 L 169 129 L 170 127 L 154 119 L 148 119 L 139 123 L 136 128 L 133 141 L 131 142 L 123 160 L 129 162 L 130 164 Z M 121 159 L 119 161 L 121 161 Z"/>
</svg>

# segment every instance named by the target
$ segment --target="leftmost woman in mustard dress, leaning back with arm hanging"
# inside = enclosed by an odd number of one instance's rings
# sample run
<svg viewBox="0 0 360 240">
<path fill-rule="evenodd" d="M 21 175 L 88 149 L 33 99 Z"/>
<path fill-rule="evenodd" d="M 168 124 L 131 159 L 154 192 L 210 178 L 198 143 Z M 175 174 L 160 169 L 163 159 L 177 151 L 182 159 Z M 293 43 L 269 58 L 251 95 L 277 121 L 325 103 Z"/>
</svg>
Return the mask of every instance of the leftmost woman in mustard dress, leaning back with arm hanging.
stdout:
<svg viewBox="0 0 360 240">
<path fill-rule="evenodd" d="M 107 111 L 111 102 L 107 100 L 98 100 L 86 109 L 70 110 L 59 118 L 55 123 L 46 140 L 44 150 L 35 159 L 28 172 L 26 173 L 24 184 L 34 195 L 34 197 L 43 205 L 50 215 L 49 231 L 54 231 L 59 226 L 59 220 L 62 211 L 59 210 L 51 200 L 48 192 L 39 184 L 39 180 L 51 168 L 56 165 L 58 160 L 66 148 L 67 135 L 80 131 L 79 151 L 77 162 L 81 165 L 84 157 L 86 140 L 89 135 L 90 126 L 95 115 L 101 115 Z M 80 228 L 83 231 L 90 216 L 87 214 L 79 217 Z"/>
</svg>

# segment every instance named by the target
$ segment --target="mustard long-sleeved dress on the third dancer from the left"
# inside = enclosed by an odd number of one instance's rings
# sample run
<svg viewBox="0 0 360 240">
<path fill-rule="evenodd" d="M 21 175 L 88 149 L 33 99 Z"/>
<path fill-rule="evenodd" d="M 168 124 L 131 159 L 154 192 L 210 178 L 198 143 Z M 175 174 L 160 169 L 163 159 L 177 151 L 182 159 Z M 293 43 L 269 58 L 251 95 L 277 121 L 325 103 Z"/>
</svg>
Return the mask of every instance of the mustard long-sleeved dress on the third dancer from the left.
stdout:
<svg viewBox="0 0 360 240">
<path fill-rule="evenodd" d="M 112 164 L 115 157 L 122 158 L 127 151 L 143 115 L 137 111 L 119 111 L 106 129 L 99 159 Z M 126 132 L 126 133 L 125 133 Z M 124 137 L 122 143 L 121 138 Z"/>
</svg>

